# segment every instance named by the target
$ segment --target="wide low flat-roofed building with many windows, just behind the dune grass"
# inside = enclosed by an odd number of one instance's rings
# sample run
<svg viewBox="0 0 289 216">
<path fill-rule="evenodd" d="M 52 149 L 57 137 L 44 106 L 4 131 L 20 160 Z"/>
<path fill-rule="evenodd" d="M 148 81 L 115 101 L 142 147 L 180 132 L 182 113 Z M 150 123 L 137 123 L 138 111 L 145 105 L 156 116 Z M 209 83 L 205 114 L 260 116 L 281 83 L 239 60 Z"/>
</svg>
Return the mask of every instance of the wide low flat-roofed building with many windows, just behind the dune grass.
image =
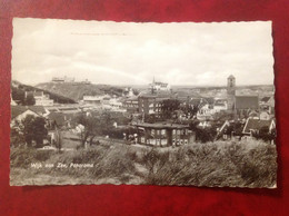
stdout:
<svg viewBox="0 0 289 216">
<path fill-rule="evenodd" d="M 134 124 L 138 129 L 138 143 L 151 146 L 179 146 L 196 140 L 188 125 L 179 124 Z"/>
</svg>

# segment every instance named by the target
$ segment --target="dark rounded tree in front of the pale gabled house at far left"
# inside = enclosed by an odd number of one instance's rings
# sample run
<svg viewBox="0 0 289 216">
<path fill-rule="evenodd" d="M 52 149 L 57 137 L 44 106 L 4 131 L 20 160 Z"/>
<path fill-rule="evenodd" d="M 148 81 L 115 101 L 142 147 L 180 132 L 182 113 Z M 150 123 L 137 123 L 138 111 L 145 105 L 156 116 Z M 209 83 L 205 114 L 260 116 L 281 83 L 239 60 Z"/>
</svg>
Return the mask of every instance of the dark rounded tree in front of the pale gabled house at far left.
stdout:
<svg viewBox="0 0 289 216">
<path fill-rule="evenodd" d="M 41 117 L 34 117 L 32 115 L 28 115 L 24 120 L 22 120 L 23 125 L 23 137 L 28 146 L 32 145 L 32 141 L 36 141 L 37 146 L 40 147 L 43 144 L 44 137 L 47 137 L 48 131 L 46 128 L 46 120 Z"/>
</svg>

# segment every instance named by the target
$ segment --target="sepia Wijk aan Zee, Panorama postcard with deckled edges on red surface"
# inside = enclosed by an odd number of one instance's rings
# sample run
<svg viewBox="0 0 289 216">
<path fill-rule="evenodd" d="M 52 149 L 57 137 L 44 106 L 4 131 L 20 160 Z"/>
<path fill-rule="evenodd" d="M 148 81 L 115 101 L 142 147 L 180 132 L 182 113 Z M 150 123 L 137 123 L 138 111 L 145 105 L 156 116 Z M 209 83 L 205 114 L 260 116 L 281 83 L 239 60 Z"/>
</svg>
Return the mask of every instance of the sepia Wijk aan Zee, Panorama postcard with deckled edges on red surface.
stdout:
<svg viewBox="0 0 289 216">
<path fill-rule="evenodd" d="M 12 23 L 11 186 L 277 188 L 271 21 Z"/>
</svg>

